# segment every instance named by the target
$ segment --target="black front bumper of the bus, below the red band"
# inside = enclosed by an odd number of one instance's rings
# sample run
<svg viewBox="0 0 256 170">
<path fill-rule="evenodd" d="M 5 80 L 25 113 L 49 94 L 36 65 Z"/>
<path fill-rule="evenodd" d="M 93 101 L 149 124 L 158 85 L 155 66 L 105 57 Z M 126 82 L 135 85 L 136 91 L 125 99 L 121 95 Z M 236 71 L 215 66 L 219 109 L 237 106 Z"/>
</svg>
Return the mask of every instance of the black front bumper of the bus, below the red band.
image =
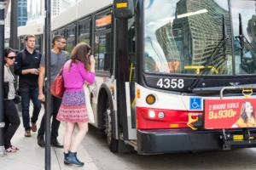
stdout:
<svg viewBox="0 0 256 170">
<path fill-rule="evenodd" d="M 226 130 L 229 136 L 242 134 L 241 129 Z M 194 131 L 184 129 L 138 130 L 138 154 L 171 153 L 199 150 L 224 150 L 224 145 L 229 144 L 230 149 L 256 147 L 256 129 L 250 129 L 253 140 L 225 141 L 222 139 L 222 130 Z"/>
</svg>

